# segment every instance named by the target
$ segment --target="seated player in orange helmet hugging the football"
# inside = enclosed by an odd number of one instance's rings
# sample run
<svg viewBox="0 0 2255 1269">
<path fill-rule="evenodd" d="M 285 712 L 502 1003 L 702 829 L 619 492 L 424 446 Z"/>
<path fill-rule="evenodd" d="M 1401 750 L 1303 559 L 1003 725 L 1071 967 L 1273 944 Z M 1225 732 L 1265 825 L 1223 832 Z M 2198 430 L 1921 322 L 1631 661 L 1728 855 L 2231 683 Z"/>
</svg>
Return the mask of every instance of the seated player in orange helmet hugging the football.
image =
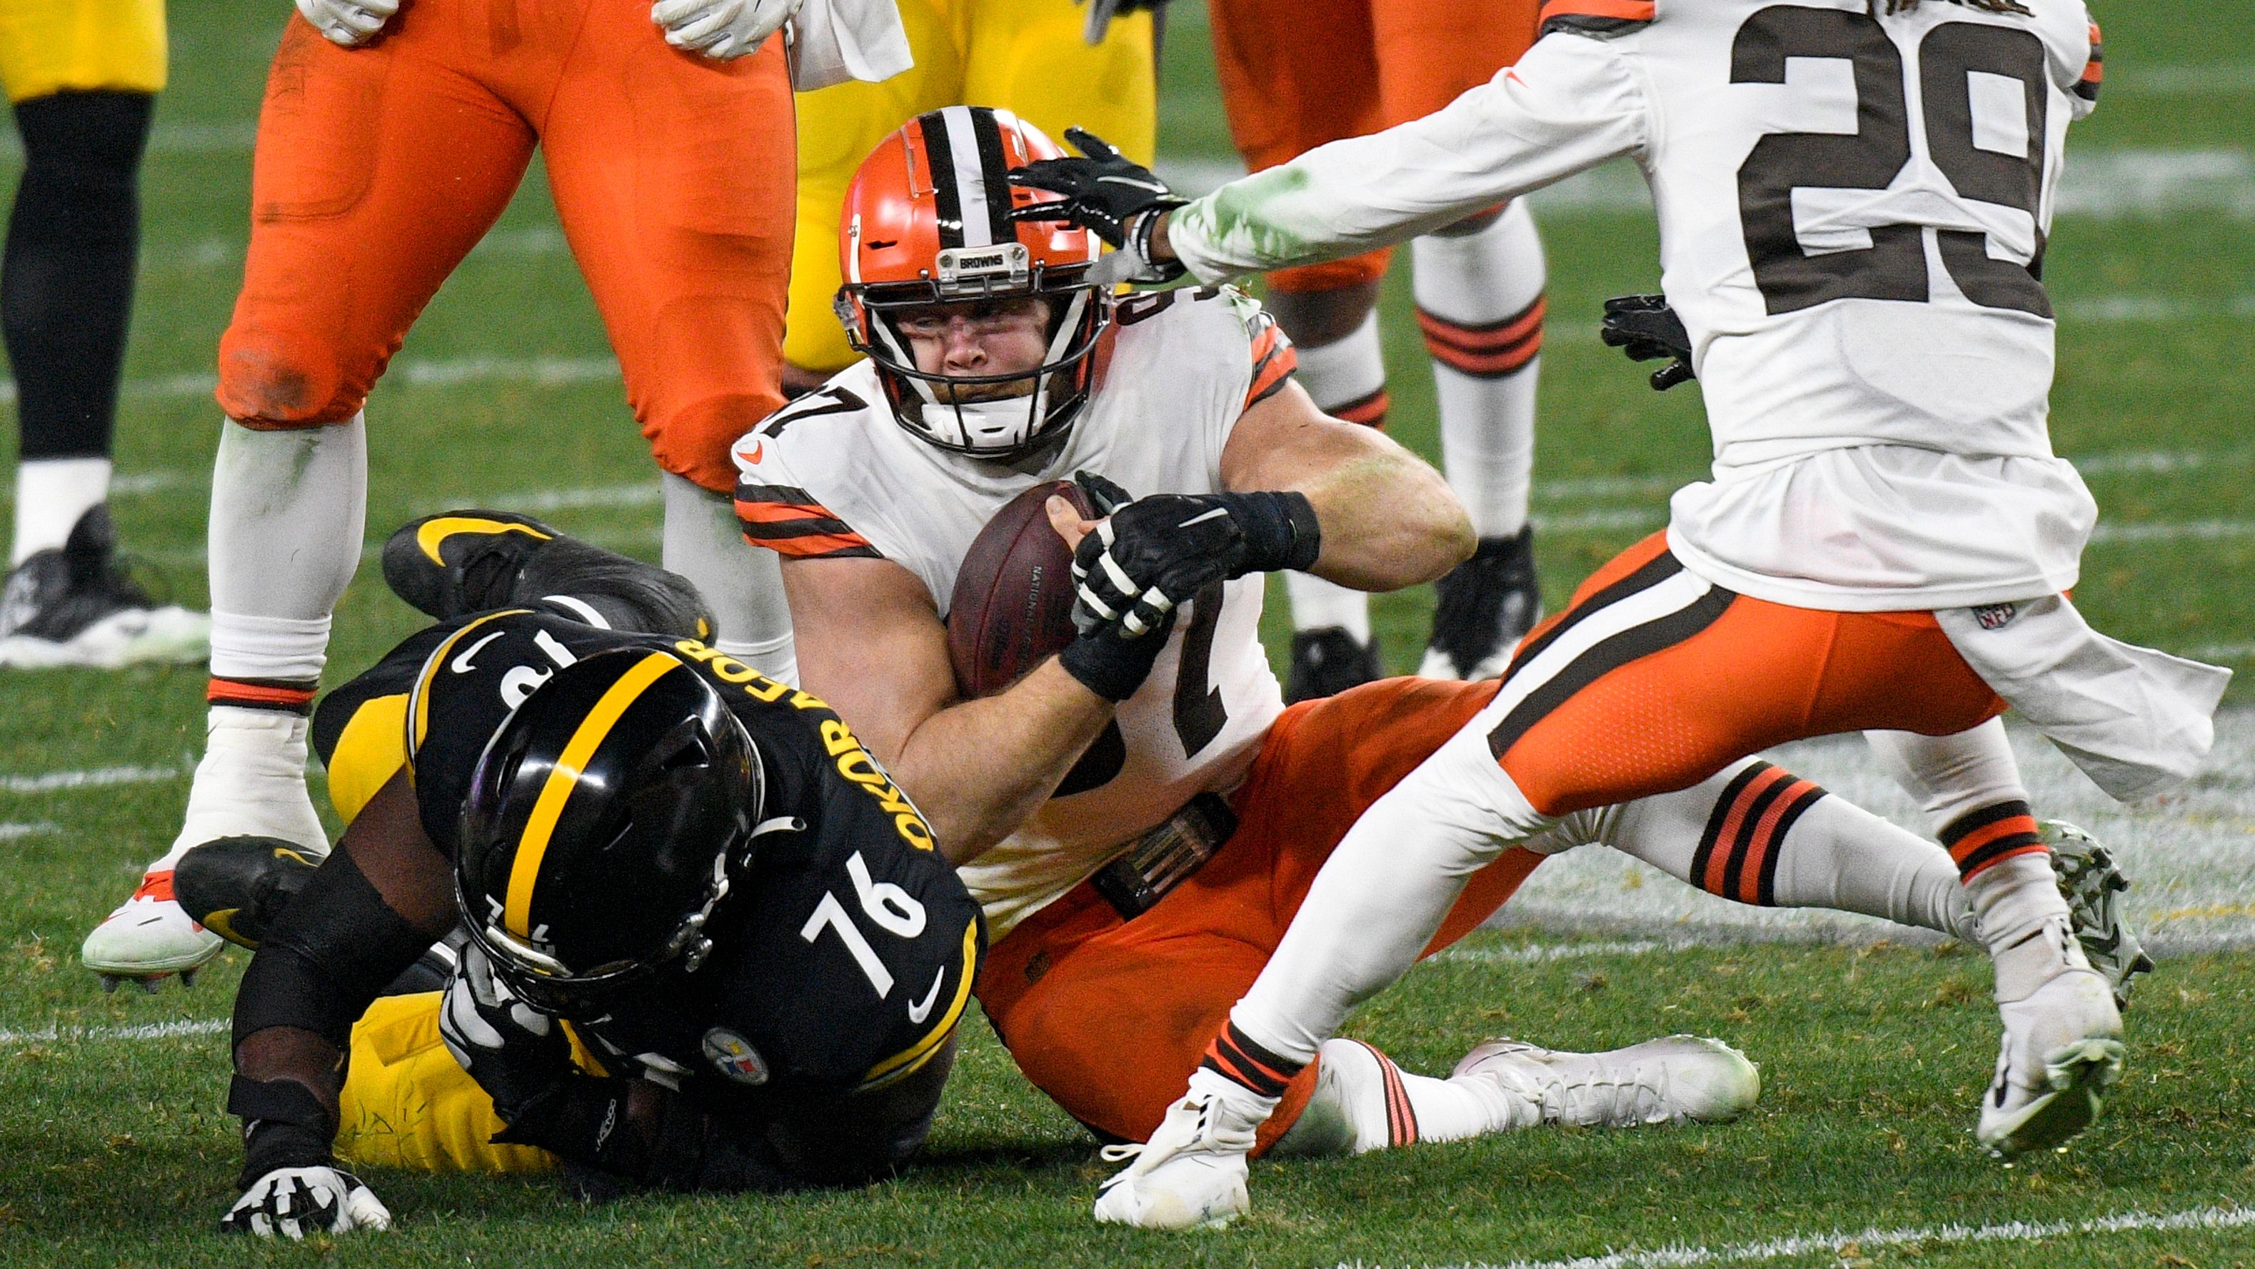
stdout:
<svg viewBox="0 0 2255 1269">
<path fill-rule="evenodd" d="M 1315 410 L 1249 298 L 1168 291 L 1114 313 L 1089 279 L 1089 234 L 1008 219 L 1006 169 L 1044 153 L 1008 113 L 956 106 L 864 162 L 841 311 L 870 361 L 737 442 L 737 500 L 751 541 L 782 554 L 807 687 L 918 798 L 985 908 L 997 942 L 976 990 L 1010 1055 L 1103 1138 L 1143 1141 L 1339 834 L 1495 683 L 1389 678 L 1283 706 L 1258 573 L 1430 582 L 1473 548 L 1463 509 L 1385 435 Z M 981 527 L 1073 471 L 1100 471 L 1087 480 L 1100 496 L 1146 496 L 1112 516 L 1116 545 L 1213 568 L 1155 633 L 1067 627 L 1062 654 L 1015 663 L 1022 678 L 974 699 L 958 683 L 979 667 L 952 660 L 949 631 L 985 620 L 963 600 L 970 557 L 992 541 Z M 1046 516 L 1060 534 L 1091 527 L 1062 496 Z M 1012 624 L 1031 591 L 994 597 L 1003 620 L 985 633 L 1046 638 Z M 1545 852 L 1592 841 L 1741 902 L 1971 935 L 1948 854 L 1745 762 L 1666 798 L 1590 807 L 1457 877 L 1461 902 L 1425 947 L 1477 926 Z M 1678 1053 L 1671 1071 L 1635 1050 L 1497 1053 L 1427 1080 L 1335 1041 L 1274 1084 L 1258 1145 L 1445 1141 L 1576 1104 L 1588 1122 L 1705 1113 L 1673 1098 L 1691 1091 L 1682 1068 L 1709 1057 Z"/>
</svg>

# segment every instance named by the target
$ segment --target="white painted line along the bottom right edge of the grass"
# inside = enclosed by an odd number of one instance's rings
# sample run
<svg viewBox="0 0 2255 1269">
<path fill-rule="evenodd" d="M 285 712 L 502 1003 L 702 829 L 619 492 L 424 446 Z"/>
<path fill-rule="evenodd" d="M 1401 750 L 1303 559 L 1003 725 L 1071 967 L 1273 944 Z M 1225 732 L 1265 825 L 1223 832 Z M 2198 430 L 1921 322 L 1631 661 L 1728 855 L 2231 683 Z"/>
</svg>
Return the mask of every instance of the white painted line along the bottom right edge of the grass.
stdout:
<svg viewBox="0 0 2255 1269">
<path fill-rule="evenodd" d="M 2192 1208 L 2185 1213 L 2117 1213 L 2111 1217 L 2079 1222 L 2000 1222 L 2000 1224 L 1933 1224 L 1905 1228 L 1865 1228 L 1829 1233 L 1795 1233 L 1788 1237 L 1766 1237 L 1761 1242 L 1727 1242 L 1723 1246 L 1698 1246 L 1675 1242 L 1651 1251 L 1612 1251 L 1608 1255 L 1578 1255 L 1574 1260 L 1511 1260 L 1468 1262 L 1454 1269 L 1682 1269 L 1694 1264 L 1757 1264 L 1763 1260 L 1788 1260 L 1797 1255 L 1838 1255 L 1854 1244 L 1860 1251 L 1874 1246 L 1946 1246 L 1962 1242 L 2043 1242 L 2050 1237 L 2095 1237 L 2108 1233 L 2167 1233 L 2167 1231 L 2226 1231 L 2255 1226 L 2255 1208 Z M 1382 1269 L 1362 1260 L 1339 1262 L 1339 1269 Z"/>
</svg>

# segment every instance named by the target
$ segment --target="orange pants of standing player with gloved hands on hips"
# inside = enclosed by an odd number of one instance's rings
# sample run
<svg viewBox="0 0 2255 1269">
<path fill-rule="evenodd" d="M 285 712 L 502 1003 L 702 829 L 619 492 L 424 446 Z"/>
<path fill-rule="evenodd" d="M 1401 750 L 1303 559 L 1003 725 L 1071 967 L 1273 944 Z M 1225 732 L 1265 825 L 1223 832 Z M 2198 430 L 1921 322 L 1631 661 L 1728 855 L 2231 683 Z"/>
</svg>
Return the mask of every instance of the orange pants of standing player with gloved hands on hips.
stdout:
<svg viewBox="0 0 2255 1269">
<path fill-rule="evenodd" d="M 291 16 L 221 408 L 255 428 L 359 412 L 534 144 L 652 453 L 733 489 L 728 444 L 782 403 L 792 90 L 780 38 L 708 61 L 665 45 L 647 0 L 406 0 L 356 50 Z"/>
</svg>

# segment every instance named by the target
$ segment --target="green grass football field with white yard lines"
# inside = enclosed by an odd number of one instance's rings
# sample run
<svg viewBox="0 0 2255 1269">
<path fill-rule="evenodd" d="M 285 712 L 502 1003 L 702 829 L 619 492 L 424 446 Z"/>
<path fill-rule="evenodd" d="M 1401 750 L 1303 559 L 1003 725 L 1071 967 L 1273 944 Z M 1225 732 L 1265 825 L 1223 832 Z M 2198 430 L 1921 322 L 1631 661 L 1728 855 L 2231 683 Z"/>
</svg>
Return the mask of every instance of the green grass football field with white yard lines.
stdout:
<svg viewBox="0 0 2255 1269">
<path fill-rule="evenodd" d="M 2163 956 L 2126 1017 L 2126 1082 L 2068 1154 L 2002 1168 L 1973 1143 L 1996 1059 L 1980 956 L 1874 922 L 1732 908 L 1585 850 L 1351 1032 L 1421 1073 L 1500 1032 L 1558 1048 L 1716 1035 L 1761 1064 L 1748 1118 L 1256 1163 L 1236 1228 L 1134 1233 L 1089 1222 L 1109 1165 L 974 1021 L 922 1161 L 866 1192 L 584 1208 L 546 1179 L 372 1170 L 388 1235 L 221 1242 L 239 1165 L 226 1017 L 246 953 L 156 996 L 104 996 L 77 962 L 171 838 L 203 672 L 0 672 L 0 1264 L 2255 1264 L 2255 7 L 2183 9 L 2097 14 L 2106 95 L 2072 135 L 2045 259 L 2061 318 L 2052 435 L 2102 507 L 2081 609 L 2239 681 L 2210 773 L 2138 807 L 2018 735 L 2039 814 L 2120 848 L 2129 911 Z M 192 606 L 205 604 L 212 361 L 286 11 L 174 0 L 174 88 L 144 174 L 115 512 L 126 550 Z M 1161 167 L 1184 185 L 1227 178 L 1202 0 L 1173 7 L 1161 97 Z M 18 169 L 9 137 L 0 185 Z M 1707 433 L 1694 390 L 1653 394 L 1644 367 L 1597 343 L 1603 298 L 1657 289 L 1635 174 L 1576 178 L 1536 214 L 1551 270 L 1536 525 L 1558 604 L 1664 523 L 1666 494 L 1705 469 Z M 1405 264 L 1385 300 L 1391 431 L 1432 455 Z M 0 383 L 9 460 L 14 392 Z M 410 516 L 487 505 L 656 557 L 656 478 L 539 167 L 424 313 L 368 421 L 370 552 Z M 1416 665 L 1430 609 L 1430 588 L 1378 600 L 1394 669 Z M 363 568 L 327 683 L 415 624 Z M 1283 631 L 1272 609 L 1272 649 Z M 1854 737 L 1786 762 L 1917 825 Z"/>
</svg>

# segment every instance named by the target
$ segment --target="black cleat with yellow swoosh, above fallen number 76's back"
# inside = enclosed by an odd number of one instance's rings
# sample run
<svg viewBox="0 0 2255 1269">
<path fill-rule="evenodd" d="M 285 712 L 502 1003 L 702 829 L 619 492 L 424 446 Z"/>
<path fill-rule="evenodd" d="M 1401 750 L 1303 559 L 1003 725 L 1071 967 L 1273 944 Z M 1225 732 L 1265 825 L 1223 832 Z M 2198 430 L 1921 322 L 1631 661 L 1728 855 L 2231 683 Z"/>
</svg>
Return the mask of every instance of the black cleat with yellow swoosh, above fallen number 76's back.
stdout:
<svg viewBox="0 0 2255 1269">
<path fill-rule="evenodd" d="M 683 577 L 516 512 L 460 509 L 408 521 L 383 543 L 383 582 L 440 620 L 546 602 L 618 631 L 706 642 L 719 633 Z"/>
</svg>

